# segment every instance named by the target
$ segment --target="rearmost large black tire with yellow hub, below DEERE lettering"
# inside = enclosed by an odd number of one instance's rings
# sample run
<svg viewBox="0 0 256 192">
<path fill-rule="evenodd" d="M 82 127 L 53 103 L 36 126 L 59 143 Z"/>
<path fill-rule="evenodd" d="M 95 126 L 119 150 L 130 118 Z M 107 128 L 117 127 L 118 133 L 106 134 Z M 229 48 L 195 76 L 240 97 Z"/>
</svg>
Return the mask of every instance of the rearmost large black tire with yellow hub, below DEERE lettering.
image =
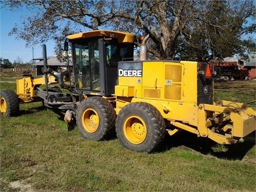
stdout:
<svg viewBox="0 0 256 192">
<path fill-rule="evenodd" d="M 166 126 L 161 113 L 149 103 L 130 103 L 117 115 L 117 138 L 128 149 L 152 153 L 161 146 L 165 132 Z"/>
</svg>

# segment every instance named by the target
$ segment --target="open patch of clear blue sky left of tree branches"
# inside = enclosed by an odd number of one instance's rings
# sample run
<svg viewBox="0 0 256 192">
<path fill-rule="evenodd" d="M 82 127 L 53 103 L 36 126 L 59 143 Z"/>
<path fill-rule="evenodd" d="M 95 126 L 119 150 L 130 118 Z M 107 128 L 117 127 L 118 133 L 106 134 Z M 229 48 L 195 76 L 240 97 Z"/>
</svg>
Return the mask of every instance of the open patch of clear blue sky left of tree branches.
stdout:
<svg viewBox="0 0 256 192">
<path fill-rule="evenodd" d="M 27 12 L 28 13 L 28 12 Z M 26 12 L 12 12 L 6 7 L 0 9 L 0 58 L 9 59 L 14 62 L 19 57 L 22 61 L 29 62 L 33 59 L 32 46 L 26 47 L 26 42 L 16 39 L 17 36 L 9 36 L 9 32 L 22 21 L 21 17 L 26 16 Z M 54 55 L 54 42 L 46 42 L 47 57 Z M 42 45 L 34 45 L 34 58 L 42 58 Z"/>
</svg>

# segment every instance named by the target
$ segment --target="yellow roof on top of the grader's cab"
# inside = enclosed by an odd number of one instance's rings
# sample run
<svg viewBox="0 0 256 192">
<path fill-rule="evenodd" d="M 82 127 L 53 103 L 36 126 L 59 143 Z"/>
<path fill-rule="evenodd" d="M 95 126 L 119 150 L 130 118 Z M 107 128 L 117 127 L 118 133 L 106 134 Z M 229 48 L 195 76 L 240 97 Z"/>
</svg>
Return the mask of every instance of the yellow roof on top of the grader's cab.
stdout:
<svg viewBox="0 0 256 192">
<path fill-rule="evenodd" d="M 67 36 L 68 39 L 86 39 L 93 37 L 117 38 L 118 43 L 134 43 L 135 35 L 121 31 L 93 30 Z"/>
</svg>

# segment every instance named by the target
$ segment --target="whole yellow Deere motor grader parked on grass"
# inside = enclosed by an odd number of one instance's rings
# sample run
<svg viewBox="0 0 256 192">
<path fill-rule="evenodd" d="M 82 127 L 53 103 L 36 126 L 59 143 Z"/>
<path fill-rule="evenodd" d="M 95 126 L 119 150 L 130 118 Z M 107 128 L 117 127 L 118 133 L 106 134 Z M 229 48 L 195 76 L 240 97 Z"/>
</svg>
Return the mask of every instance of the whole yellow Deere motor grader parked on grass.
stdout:
<svg viewBox="0 0 256 192">
<path fill-rule="evenodd" d="M 189 131 L 221 144 L 233 144 L 255 131 L 256 112 L 244 103 L 213 100 L 214 67 L 195 61 L 146 59 L 147 36 L 140 60 L 133 60 L 135 36 L 97 30 L 69 35 L 73 69 L 17 80 L 17 93 L 0 92 L 5 116 L 17 115 L 20 103 L 43 101 L 65 110 L 68 128 L 74 119 L 85 139 L 103 140 L 113 130 L 131 150 L 156 150 L 166 134 Z M 63 76 L 69 74 L 66 84 Z M 49 79 L 51 79 L 49 81 Z M 70 93 L 62 93 L 59 83 Z M 41 85 L 46 84 L 44 90 Z"/>
</svg>

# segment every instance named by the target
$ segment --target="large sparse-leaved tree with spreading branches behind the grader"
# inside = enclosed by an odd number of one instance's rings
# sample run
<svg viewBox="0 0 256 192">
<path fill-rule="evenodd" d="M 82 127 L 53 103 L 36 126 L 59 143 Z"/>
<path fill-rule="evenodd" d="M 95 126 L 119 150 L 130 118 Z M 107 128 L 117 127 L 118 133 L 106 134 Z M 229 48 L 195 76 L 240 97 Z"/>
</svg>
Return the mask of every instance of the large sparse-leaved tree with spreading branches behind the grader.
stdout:
<svg viewBox="0 0 256 192">
<path fill-rule="evenodd" d="M 4 0 L 11 10 L 29 14 L 10 35 L 28 44 L 54 39 L 56 52 L 65 36 L 95 29 L 150 34 L 153 58 L 175 56 L 209 61 L 255 49 L 253 0 Z M 23 8 L 22 8 L 23 7 Z M 254 39 L 255 40 L 255 39 Z M 140 44 L 138 44 L 140 46 Z"/>
</svg>

